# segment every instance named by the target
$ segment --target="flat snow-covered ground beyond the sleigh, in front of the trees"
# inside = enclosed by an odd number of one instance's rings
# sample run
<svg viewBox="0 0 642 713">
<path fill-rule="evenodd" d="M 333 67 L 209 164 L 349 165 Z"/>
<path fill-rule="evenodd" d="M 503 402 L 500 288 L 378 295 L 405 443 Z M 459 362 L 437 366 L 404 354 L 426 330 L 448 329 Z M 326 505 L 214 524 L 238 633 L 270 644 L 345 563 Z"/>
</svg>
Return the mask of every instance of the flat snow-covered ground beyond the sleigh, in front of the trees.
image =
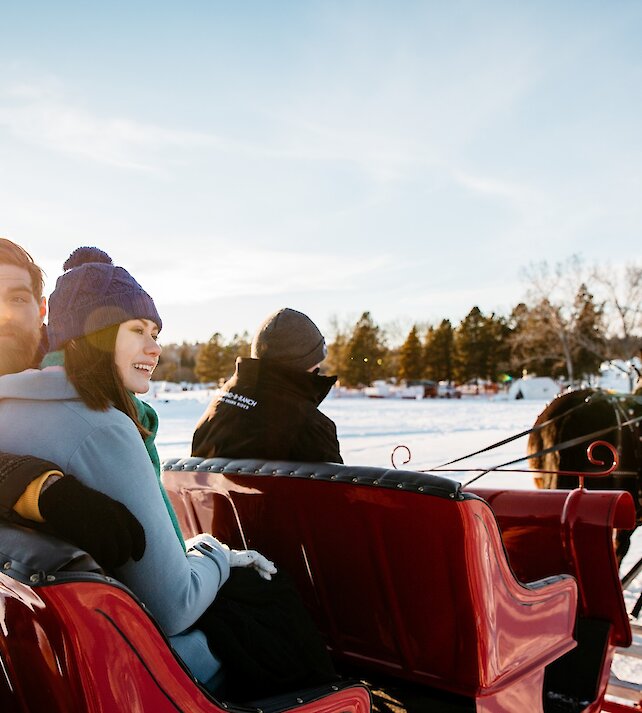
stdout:
<svg viewBox="0 0 642 713">
<path fill-rule="evenodd" d="M 194 426 L 209 403 L 212 393 L 191 391 L 152 394 L 147 400 L 160 416 L 158 450 L 161 459 L 187 457 Z M 477 451 L 532 427 L 544 401 L 493 401 L 483 397 L 462 399 L 366 399 L 329 398 L 322 410 L 336 424 L 341 454 L 352 465 L 390 467 L 395 446 L 407 446 L 412 459 L 402 465 L 403 451 L 396 457 L 397 466 L 428 469 L 454 458 Z M 476 456 L 453 467 L 490 467 L 520 458 L 526 451 L 526 438 L 520 438 L 500 449 Z M 518 468 L 525 468 L 524 463 Z M 475 473 L 444 473 L 466 481 Z M 480 485 L 509 488 L 532 488 L 532 478 L 520 473 L 489 473 Z M 642 528 L 640 528 L 642 530 Z M 631 550 L 622 571 L 642 557 L 642 533 L 633 537 Z M 642 590 L 642 576 L 625 592 L 630 611 Z M 624 679 L 642 682 L 642 662 L 618 659 L 614 670 Z"/>
</svg>

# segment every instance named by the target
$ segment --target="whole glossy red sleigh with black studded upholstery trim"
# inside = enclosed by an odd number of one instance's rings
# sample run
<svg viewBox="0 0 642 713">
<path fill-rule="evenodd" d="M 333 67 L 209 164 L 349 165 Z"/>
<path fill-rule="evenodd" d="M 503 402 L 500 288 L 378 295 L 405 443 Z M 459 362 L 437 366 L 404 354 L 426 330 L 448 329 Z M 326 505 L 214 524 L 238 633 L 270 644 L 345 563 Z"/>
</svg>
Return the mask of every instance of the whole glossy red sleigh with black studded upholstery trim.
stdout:
<svg viewBox="0 0 642 713">
<path fill-rule="evenodd" d="M 617 710 L 604 696 L 631 629 L 612 533 L 633 524 L 630 495 L 462 492 L 438 475 L 332 464 L 165 468 L 185 534 L 211 531 L 287 569 L 339 669 L 379 691 L 380 708 Z M 117 582 L 16 562 L 4 544 L 0 533 L 0 710 L 236 709 L 198 686 Z M 253 710 L 369 709 L 348 682 Z"/>
</svg>

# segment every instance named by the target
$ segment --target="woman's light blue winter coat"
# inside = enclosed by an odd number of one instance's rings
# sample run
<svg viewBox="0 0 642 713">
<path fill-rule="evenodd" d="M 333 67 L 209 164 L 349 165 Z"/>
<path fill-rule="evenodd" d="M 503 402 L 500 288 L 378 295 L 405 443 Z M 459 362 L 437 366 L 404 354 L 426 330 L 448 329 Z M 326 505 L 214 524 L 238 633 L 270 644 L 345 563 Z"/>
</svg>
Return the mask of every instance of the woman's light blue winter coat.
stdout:
<svg viewBox="0 0 642 713">
<path fill-rule="evenodd" d="M 130 560 L 115 574 L 168 636 L 189 629 L 227 580 L 229 564 L 222 551 L 183 551 L 131 419 L 115 408 L 87 408 L 62 368 L 0 378 L 0 450 L 53 461 L 129 508 L 145 529 L 147 546 L 139 562 Z M 207 660 L 200 632 L 176 639 L 176 649 L 188 658 L 195 646 L 201 660 L 186 663 L 205 680 L 219 664 L 211 655 Z"/>
</svg>

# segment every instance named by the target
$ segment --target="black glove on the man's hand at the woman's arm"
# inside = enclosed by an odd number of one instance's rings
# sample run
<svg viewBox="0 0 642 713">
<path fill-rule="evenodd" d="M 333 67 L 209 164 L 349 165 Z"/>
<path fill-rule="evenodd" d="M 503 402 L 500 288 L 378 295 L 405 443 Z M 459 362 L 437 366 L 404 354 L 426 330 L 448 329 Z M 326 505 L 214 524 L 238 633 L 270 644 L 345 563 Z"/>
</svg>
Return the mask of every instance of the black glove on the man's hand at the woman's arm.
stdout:
<svg viewBox="0 0 642 713">
<path fill-rule="evenodd" d="M 85 550 L 105 569 L 130 557 L 138 561 L 145 552 L 145 531 L 131 512 L 73 475 L 52 483 L 38 504 L 52 534 Z"/>
</svg>

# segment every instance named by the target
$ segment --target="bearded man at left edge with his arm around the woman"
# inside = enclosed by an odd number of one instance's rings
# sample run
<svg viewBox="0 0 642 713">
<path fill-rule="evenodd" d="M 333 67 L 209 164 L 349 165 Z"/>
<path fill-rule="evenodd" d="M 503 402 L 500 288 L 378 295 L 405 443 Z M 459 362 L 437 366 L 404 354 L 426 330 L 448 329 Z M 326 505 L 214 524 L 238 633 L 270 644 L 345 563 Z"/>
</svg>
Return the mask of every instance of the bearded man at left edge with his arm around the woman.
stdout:
<svg viewBox="0 0 642 713">
<path fill-rule="evenodd" d="M 43 286 L 31 255 L 0 238 L 0 376 L 37 366 L 46 351 Z M 145 550 L 144 530 L 122 503 L 26 454 L 0 452 L 0 518 L 69 540 L 107 569 Z"/>
</svg>

